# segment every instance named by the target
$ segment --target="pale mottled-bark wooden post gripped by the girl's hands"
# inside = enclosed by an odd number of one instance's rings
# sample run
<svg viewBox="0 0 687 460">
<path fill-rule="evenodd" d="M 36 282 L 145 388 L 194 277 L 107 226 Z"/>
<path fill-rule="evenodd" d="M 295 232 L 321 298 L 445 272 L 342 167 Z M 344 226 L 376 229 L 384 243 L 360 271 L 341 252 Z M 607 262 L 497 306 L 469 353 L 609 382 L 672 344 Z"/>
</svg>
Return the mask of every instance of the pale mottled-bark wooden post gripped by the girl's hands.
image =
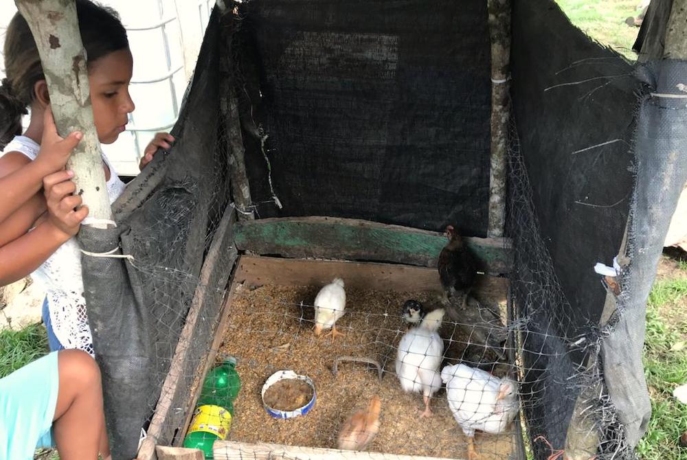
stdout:
<svg viewBox="0 0 687 460">
<path fill-rule="evenodd" d="M 80 130 L 84 137 L 67 168 L 74 171 L 77 193 L 89 207 L 86 225 L 113 224 L 102 168 L 100 141 L 93 124 L 86 54 L 74 0 L 15 0 L 28 23 L 41 56 L 57 132 L 65 137 Z"/>
</svg>

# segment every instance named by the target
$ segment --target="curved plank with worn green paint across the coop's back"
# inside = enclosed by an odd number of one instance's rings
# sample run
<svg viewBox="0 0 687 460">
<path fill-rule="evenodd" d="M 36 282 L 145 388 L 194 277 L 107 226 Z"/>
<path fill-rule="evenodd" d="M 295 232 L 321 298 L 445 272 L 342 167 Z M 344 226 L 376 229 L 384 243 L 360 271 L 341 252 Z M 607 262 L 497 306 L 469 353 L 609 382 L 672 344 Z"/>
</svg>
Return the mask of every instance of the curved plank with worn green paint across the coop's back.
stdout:
<svg viewBox="0 0 687 460">
<path fill-rule="evenodd" d="M 510 273 L 508 238 L 466 238 L 484 273 Z M 262 255 L 436 266 L 441 233 L 356 219 L 302 217 L 239 222 L 238 249 Z"/>
</svg>

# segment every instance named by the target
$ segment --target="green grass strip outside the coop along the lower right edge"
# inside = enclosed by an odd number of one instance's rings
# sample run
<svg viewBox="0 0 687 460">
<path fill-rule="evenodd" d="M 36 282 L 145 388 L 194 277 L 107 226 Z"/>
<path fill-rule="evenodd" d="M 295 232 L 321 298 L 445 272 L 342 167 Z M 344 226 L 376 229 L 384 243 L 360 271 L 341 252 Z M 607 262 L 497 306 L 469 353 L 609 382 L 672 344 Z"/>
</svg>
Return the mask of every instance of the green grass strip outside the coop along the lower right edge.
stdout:
<svg viewBox="0 0 687 460">
<path fill-rule="evenodd" d="M 687 430 L 687 404 L 673 398 L 673 389 L 687 382 L 687 271 L 657 281 L 646 307 L 644 375 L 651 395 L 651 422 L 637 452 L 644 460 L 687 460 L 677 439 Z"/>
</svg>

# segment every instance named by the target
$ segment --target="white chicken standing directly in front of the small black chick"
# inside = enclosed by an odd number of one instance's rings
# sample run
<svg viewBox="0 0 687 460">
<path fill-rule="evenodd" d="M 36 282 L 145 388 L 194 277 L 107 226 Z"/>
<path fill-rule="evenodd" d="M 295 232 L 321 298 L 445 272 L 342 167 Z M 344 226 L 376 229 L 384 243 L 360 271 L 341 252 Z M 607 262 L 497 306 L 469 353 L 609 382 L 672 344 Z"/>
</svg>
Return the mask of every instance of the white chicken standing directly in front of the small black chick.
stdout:
<svg viewBox="0 0 687 460">
<path fill-rule="evenodd" d="M 429 398 L 441 388 L 441 365 L 444 343 L 436 332 L 444 317 L 438 308 L 423 317 L 417 327 L 412 327 L 398 343 L 396 376 L 403 391 L 423 393 L 425 411 L 420 417 L 431 417 Z"/>
</svg>

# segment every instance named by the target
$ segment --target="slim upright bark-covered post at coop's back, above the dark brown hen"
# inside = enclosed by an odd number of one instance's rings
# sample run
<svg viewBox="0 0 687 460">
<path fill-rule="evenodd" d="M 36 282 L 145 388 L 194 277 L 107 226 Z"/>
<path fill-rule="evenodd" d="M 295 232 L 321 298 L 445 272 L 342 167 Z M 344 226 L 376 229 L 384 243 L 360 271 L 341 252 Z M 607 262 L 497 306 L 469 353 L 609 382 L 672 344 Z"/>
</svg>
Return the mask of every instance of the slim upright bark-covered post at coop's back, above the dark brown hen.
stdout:
<svg viewBox="0 0 687 460">
<path fill-rule="evenodd" d="M 510 0 L 488 0 L 491 36 L 491 174 L 488 237 L 504 235 L 510 104 Z"/>
</svg>

